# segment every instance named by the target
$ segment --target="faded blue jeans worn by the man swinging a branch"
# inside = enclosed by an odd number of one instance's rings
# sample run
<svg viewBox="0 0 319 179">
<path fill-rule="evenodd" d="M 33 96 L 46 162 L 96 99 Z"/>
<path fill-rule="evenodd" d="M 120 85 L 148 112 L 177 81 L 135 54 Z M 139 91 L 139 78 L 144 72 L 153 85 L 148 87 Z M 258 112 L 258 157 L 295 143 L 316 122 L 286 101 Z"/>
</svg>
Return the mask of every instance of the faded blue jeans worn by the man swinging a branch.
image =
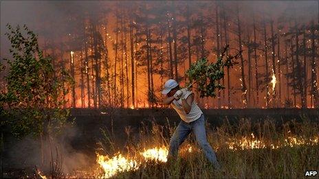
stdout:
<svg viewBox="0 0 319 179">
<path fill-rule="evenodd" d="M 205 117 L 203 114 L 199 117 L 199 119 L 190 123 L 186 123 L 183 120 L 179 122 L 173 136 L 170 138 L 168 158 L 171 158 L 171 156 L 177 156 L 179 145 L 185 141 L 190 132 L 194 132 L 197 143 L 205 153 L 206 158 L 210 161 L 210 163 L 212 163 L 215 168 L 220 169 L 216 155 L 206 138 Z"/>
</svg>

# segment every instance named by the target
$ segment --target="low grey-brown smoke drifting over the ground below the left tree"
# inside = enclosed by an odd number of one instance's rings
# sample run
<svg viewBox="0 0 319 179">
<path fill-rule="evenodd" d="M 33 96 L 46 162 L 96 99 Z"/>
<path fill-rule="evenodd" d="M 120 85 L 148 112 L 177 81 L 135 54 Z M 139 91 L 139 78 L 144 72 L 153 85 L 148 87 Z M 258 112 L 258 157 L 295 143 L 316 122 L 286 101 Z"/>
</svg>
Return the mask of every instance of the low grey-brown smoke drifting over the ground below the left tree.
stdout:
<svg viewBox="0 0 319 179">
<path fill-rule="evenodd" d="M 54 167 L 61 169 L 63 174 L 72 174 L 76 169 L 87 169 L 87 166 L 94 164 L 95 157 L 74 149 L 74 145 L 81 145 L 74 143 L 80 137 L 79 133 L 76 127 L 70 127 L 64 130 L 61 136 L 45 139 L 43 143 L 32 136 L 25 136 L 20 141 L 12 139 L 11 144 L 7 144 L 10 146 L 6 146 L 7 154 L 3 167 L 32 172 L 36 166 L 45 174 L 50 174 L 52 163 Z"/>
</svg>

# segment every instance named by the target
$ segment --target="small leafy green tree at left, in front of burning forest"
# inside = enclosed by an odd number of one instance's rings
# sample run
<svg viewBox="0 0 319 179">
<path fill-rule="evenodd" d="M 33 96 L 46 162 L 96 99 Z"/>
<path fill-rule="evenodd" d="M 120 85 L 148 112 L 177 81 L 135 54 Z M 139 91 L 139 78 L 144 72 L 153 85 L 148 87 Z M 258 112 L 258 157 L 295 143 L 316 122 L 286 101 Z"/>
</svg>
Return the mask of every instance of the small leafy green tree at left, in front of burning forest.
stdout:
<svg viewBox="0 0 319 179">
<path fill-rule="evenodd" d="M 26 25 L 23 29 L 7 27 L 13 60 L 5 59 L 9 64 L 5 77 L 8 92 L 1 100 L 6 123 L 18 137 L 32 134 L 43 139 L 56 134 L 69 117 L 69 110 L 63 108 L 68 93 L 63 82 L 74 85 L 74 81 L 63 69 L 54 75 L 52 59 L 43 57 L 36 34 Z"/>
</svg>

